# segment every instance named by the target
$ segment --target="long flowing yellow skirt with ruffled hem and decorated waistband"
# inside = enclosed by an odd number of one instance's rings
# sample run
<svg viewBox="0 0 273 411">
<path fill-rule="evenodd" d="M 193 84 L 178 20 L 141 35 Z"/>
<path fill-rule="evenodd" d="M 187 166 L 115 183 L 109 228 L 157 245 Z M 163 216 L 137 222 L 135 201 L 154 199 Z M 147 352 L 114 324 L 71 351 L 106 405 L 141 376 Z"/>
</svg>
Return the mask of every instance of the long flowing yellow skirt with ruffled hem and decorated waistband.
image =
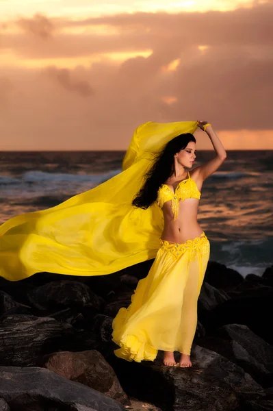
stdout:
<svg viewBox="0 0 273 411">
<path fill-rule="evenodd" d="M 148 275 L 140 279 L 128 308 L 113 320 L 114 353 L 127 361 L 155 360 L 158 350 L 190 355 L 197 325 L 197 301 L 210 245 L 200 237 L 172 244 L 160 240 Z"/>
</svg>

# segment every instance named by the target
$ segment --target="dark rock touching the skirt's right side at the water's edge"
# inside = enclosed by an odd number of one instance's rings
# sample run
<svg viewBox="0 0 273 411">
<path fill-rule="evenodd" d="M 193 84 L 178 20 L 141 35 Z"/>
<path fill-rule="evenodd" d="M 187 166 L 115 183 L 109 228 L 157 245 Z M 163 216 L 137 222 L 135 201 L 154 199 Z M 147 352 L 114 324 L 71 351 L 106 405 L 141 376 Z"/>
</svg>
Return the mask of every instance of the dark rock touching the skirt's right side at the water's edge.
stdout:
<svg viewBox="0 0 273 411">
<path fill-rule="evenodd" d="M 209 261 L 204 281 L 213 287 L 228 291 L 244 281 L 244 277 L 237 271 L 228 269 L 224 264 Z"/>
</svg>

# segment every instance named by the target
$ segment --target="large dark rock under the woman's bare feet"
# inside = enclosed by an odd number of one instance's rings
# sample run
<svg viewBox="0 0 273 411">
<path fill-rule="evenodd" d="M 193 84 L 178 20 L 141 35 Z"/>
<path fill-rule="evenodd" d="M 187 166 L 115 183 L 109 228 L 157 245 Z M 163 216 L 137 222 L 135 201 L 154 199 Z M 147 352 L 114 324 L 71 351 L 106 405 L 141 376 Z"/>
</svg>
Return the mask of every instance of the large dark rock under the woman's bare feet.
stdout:
<svg viewBox="0 0 273 411">
<path fill-rule="evenodd" d="M 175 358 L 178 362 L 179 353 Z M 192 347 L 190 369 L 167 367 L 162 360 L 159 351 L 155 362 L 112 357 L 110 364 L 128 395 L 163 410 L 233 411 L 246 400 L 265 397 L 263 388 L 241 367 L 198 345 Z"/>
</svg>

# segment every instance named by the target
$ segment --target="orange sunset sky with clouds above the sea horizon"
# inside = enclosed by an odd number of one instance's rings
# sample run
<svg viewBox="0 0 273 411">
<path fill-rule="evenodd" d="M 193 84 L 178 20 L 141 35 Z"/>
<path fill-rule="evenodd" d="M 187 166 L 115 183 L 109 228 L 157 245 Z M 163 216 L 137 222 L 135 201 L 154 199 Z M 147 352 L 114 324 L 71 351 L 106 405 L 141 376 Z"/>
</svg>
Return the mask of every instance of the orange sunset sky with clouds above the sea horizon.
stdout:
<svg viewBox="0 0 273 411">
<path fill-rule="evenodd" d="M 0 0 L 0 151 L 127 149 L 207 120 L 273 149 L 273 0 Z M 196 132 L 197 149 L 213 149 Z"/>
</svg>

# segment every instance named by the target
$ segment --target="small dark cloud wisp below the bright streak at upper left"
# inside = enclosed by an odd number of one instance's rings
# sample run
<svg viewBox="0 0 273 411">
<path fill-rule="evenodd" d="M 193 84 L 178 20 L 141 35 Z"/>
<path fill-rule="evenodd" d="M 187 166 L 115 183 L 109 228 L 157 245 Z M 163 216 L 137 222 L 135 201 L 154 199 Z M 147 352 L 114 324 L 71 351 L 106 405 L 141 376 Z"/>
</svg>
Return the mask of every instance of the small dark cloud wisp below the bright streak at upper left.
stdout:
<svg viewBox="0 0 273 411">
<path fill-rule="evenodd" d="M 76 92 L 81 97 L 90 97 L 94 95 L 94 90 L 90 84 L 83 80 L 73 79 L 73 76 L 68 69 L 48 67 L 44 73 L 59 83 L 64 89 Z"/>
</svg>

